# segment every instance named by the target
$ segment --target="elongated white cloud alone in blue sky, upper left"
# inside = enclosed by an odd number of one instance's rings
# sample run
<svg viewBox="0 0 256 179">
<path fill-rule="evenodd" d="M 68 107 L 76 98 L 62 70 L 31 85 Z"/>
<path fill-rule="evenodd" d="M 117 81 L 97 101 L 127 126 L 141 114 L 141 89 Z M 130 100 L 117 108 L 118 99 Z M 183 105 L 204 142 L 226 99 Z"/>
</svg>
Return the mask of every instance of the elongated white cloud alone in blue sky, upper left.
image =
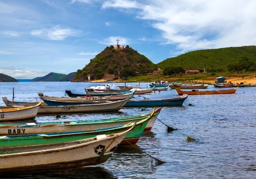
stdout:
<svg viewBox="0 0 256 179">
<path fill-rule="evenodd" d="M 62 28 L 61 26 L 57 25 L 52 29 L 32 30 L 31 34 L 40 38 L 46 38 L 50 40 L 64 40 L 68 37 L 78 37 L 81 32 L 81 30 Z"/>
</svg>

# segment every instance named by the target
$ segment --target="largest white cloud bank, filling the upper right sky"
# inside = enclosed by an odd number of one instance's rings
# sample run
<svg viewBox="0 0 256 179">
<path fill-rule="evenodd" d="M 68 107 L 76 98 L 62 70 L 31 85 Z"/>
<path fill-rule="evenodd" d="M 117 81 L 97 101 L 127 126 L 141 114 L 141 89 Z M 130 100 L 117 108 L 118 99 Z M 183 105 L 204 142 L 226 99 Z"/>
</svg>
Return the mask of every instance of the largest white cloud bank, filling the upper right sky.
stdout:
<svg viewBox="0 0 256 179">
<path fill-rule="evenodd" d="M 102 9 L 123 9 L 150 21 L 164 43 L 181 51 L 254 45 L 254 7 L 255 0 L 107 0 L 102 5 Z"/>
</svg>

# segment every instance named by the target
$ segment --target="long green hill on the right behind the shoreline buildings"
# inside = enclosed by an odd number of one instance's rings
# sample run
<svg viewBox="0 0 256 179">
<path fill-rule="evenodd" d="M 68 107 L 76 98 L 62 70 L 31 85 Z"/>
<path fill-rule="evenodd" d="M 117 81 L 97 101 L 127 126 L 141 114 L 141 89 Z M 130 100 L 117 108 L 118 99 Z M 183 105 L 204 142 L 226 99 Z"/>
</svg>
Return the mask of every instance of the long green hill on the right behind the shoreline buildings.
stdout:
<svg viewBox="0 0 256 179">
<path fill-rule="evenodd" d="M 172 65 L 181 66 L 185 70 L 205 68 L 207 72 L 227 72 L 230 64 L 238 63 L 244 58 L 256 63 L 256 46 L 191 51 L 163 60 L 157 65 L 159 68 Z"/>
</svg>

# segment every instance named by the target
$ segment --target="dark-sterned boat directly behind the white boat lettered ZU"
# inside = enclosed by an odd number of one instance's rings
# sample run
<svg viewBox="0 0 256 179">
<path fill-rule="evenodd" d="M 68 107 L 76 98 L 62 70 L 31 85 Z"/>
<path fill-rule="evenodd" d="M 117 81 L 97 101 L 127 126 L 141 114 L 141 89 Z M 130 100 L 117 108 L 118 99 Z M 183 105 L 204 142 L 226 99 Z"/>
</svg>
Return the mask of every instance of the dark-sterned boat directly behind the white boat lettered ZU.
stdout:
<svg viewBox="0 0 256 179">
<path fill-rule="evenodd" d="M 81 96 L 106 96 L 111 95 L 109 101 L 115 101 L 115 100 L 122 100 L 126 98 L 132 98 L 133 94 L 131 91 L 128 91 L 126 93 L 92 93 L 92 94 L 74 94 L 70 90 L 66 90 L 66 94 L 69 97 L 81 97 Z"/>
</svg>

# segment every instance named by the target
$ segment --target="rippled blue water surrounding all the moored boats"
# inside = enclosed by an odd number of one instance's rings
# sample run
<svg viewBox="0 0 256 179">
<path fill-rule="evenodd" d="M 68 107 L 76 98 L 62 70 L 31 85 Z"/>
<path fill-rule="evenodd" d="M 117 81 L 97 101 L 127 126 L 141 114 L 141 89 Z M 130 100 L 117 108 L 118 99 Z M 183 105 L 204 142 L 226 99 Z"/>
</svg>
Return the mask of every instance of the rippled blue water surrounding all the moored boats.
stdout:
<svg viewBox="0 0 256 179">
<path fill-rule="evenodd" d="M 17 82 L 0 83 L 0 97 L 29 101 L 38 93 L 64 96 L 65 90 L 84 93 L 85 87 L 105 83 Z M 124 85 L 123 83 L 119 83 Z M 129 83 L 147 87 L 149 83 Z M 128 85 L 128 83 L 127 83 Z M 210 85 L 209 90 L 214 86 Z M 136 98 L 171 98 L 176 90 L 144 94 Z M 30 99 L 27 99 L 30 98 Z M 167 132 L 156 120 L 134 147 L 120 147 L 109 160 L 97 166 L 70 170 L 15 174 L 16 179 L 252 179 L 256 176 L 256 88 L 239 88 L 236 94 L 189 96 L 183 107 L 163 107 L 158 119 L 179 130 Z M 189 105 L 191 104 L 191 105 Z M 4 106 L 2 100 L 0 105 Z M 103 119 L 144 114 L 146 108 L 123 108 L 118 112 L 37 116 L 37 122 Z M 190 136 L 196 139 L 187 142 Z M 151 157 L 165 163 L 151 165 Z M 18 162 L 18 161 L 17 161 Z M 153 162 L 154 164 L 154 162 Z"/>
</svg>

